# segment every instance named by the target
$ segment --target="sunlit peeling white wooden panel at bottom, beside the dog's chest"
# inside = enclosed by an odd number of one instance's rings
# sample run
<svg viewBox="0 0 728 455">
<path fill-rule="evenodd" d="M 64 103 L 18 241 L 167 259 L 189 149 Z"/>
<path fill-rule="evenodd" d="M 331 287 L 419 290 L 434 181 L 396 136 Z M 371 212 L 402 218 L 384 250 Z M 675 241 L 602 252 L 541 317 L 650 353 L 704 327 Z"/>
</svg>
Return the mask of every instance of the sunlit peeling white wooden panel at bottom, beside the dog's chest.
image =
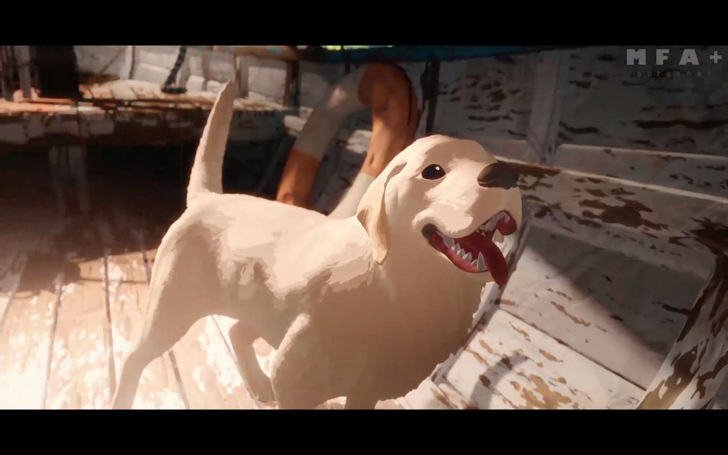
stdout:
<svg viewBox="0 0 728 455">
<path fill-rule="evenodd" d="M 496 309 L 443 378 L 458 408 L 628 408 L 643 390 Z"/>
</svg>

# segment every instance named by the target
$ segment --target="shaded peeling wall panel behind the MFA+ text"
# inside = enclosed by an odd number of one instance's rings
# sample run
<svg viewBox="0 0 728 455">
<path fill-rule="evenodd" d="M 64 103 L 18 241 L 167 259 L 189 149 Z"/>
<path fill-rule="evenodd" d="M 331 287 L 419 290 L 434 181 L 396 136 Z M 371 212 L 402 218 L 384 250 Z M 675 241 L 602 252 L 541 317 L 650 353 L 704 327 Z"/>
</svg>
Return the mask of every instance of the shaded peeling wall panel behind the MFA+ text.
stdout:
<svg viewBox="0 0 728 455">
<path fill-rule="evenodd" d="M 684 48 L 671 47 L 670 61 Z M 691 75 L 674 63 L 654 66 L 655 47 L 646 47 L 647 66 L 627 66 L 627 49 L 609 46 L 569 52 L 573 92 L 566 106 L 573 107 L 563 114 L 561 141 L 728 156 L 723 65 L 708 60 L 713 51 L 726 55 L 728 47 L 698 50 L 700 65 L 690 68 Z M 677 71 L 682 74 L 678 76 Z M 703 73 L 697 76 L 698 71 Z"/>
</svg>

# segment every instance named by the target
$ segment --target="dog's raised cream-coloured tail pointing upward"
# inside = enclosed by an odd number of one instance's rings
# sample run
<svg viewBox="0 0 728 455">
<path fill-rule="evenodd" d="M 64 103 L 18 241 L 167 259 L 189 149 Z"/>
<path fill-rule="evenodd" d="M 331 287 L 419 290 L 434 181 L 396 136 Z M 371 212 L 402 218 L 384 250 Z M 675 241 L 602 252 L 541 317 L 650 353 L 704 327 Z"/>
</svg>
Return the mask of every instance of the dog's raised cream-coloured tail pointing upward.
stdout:
<svg viewBox="0 0 728 455">
<path fill-rule="evenodd" d="M 227 82 L 218 93 L 213 110 L 194 155 L 187 186 L 187 206 L 204 194 L 223 192 L 223 157 L 230 132 L 230 121 L 237 88 Z"/>
</svg>

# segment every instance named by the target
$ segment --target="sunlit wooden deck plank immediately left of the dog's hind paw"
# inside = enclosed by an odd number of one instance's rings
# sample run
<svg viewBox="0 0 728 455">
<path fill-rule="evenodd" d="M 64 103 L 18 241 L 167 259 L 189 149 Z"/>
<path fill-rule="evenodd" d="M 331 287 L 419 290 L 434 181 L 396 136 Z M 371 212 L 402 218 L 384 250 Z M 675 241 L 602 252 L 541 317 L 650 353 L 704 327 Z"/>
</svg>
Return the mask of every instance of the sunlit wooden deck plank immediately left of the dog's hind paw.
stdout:
<svg viewBox="0 0 728 455">
<path fill-rule="evenodd" d="M 114 387 L 103 248 L 95 229 L 75 234 L 67 244 L 46 407 L 103 409 Z"/>
</svg>

